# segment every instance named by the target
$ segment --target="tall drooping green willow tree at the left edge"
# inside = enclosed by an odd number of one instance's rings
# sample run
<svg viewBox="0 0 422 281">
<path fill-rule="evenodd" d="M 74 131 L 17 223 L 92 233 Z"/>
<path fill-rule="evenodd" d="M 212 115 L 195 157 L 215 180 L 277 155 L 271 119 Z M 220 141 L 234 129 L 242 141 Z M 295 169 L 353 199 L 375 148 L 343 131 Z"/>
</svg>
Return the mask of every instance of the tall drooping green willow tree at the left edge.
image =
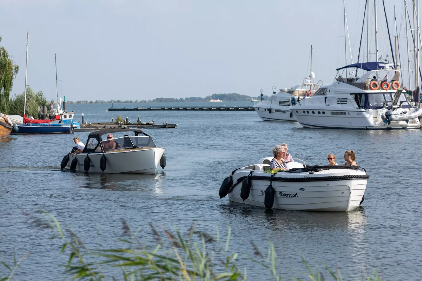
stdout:
<svg viewBox="0 0 422 281">
<path fill-rule="evenodd" d="M 0 43 L 2 38 L 0 36 Z M 19 65 L 14 65 L 8 51 L 0 46 L 0 112 L 8 113 L 9 94 L 18 71 Z"/>
</svg>

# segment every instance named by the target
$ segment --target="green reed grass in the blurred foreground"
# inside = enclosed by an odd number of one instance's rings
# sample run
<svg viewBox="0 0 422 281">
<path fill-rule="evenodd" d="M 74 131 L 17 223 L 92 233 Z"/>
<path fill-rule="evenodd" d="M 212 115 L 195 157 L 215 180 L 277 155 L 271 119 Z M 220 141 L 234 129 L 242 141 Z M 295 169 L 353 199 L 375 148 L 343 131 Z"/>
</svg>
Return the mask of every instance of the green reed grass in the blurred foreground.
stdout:
<svg viewBox="0 0 422 281">
<path fill-rule="evenodd" d="M 63 230 L 60 222 L 50 213 L 42 212 L 40 216 L 24 212 L 24 215 L 27 216 L 28 222 L 34 227 L 53 231 L 54 236 L 51 238 L 60 240 L 60 254 L 68 255 L 67 263 L 63 265 L 63 274 L 65 277 L 71 277 L 75 280 L 211 281 L 248 279 L 246 267 L 241 268 L 239 266 L 239 264 L 243 264 L 244 260 L 242 261 L 239 258 L 238 253 L 230 253 L 230 226 L 227 234 L 222 238 L 218 227 L 216 237 L 214 237 L 206 232 L 195 230 L 194 224 L 191 225 L 187 233 L 181 233 L 176 227 L 171 233 L 164 227 L 157 230 L 150 223 L 151 232 L 148 238 L 154 242 L 148 243 L 138 238 L 139 230 L 133 232 L 126 220 L 121 218 L 123 238 L 118 239 L 118 241 L 124 247 L 90 249 L 70 229 Z M 264 268 L 268 270 L 270 280 L 281 281 L 273 243 L 268 242 L 266 257 L 253 242 L 250 244 L 254 256 L 242 255 L 245 259 L 252 260 L 256 265 L 249 270 L 255 271 L 257 267 Z M 0 277 L 0 281 L 11 280 L 14 271 L 28 254 L 25 254 L 16 262 L 15 253 L 13 267 L 1 262 L 8 273 L 5 277 Z M 315 270 L 311 269 L 303 257 L 302 262 L 308 270 L 306 273 L 300 273 L 305 279 L 290 277 L 289 280 L 343 280 L 337 267 L 332 271 L 325 265 L 325 276 L 319 271 L 318 266 Z M 364 274 L 361 280 L 379 281 L 381 279 L 374 271 L 372 276 L 365 276 Z"/>
</svg>

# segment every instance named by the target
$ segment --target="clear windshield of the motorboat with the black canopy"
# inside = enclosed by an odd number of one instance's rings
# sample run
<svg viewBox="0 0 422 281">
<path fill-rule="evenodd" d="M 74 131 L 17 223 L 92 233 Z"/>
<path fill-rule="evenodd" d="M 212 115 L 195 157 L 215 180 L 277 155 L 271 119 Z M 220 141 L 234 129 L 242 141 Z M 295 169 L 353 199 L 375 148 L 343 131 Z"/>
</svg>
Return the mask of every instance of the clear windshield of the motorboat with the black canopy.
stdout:
<svg viewBox="0 0 422 281">
<path fill-rule="evenodd" d="M 104 151 L 117 149 L 157 147 L 151 137 L 128 135 L 101 141 Z"/>
</svg>

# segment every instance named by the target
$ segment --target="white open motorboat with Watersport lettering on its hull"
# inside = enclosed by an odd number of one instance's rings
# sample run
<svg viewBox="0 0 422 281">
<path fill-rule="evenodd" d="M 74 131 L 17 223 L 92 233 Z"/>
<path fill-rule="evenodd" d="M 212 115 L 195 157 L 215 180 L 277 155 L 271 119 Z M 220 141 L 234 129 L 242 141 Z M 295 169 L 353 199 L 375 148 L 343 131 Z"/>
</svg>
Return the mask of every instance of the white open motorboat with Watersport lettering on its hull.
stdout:
<svg viewBox="0 0 422 281">
<path fill-rule="evenodd" d="M 359 166 L 287 162 L 289 170 L 265 173 L 271 159 L 234 170 L 223 181 L 220 198 L 228 194 L 230 201 L 238 203 L 302 211 L 347 212 L 363 202 L 369 175 Z"/>
</svg>

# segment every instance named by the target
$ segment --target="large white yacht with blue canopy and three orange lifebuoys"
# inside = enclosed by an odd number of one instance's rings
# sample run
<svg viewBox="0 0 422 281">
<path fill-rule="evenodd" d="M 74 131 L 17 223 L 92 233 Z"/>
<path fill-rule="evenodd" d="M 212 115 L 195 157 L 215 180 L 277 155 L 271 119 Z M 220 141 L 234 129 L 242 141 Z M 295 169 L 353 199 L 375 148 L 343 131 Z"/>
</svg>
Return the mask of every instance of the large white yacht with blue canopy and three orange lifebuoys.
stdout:
<svg viewBox="0 0 422 281">
<path fill-rule="evenodd" d="M 368 71 L 361 77 L 343 78 L 323 85 L 312 97 L 289 107 L 298 122 L 309 128 L 411 129 L 419 128 L 422 108 L 406 99 L 400 71 L 382 62 L 346 65 Z"/>
</svg>

